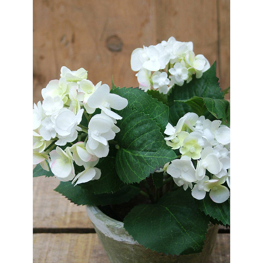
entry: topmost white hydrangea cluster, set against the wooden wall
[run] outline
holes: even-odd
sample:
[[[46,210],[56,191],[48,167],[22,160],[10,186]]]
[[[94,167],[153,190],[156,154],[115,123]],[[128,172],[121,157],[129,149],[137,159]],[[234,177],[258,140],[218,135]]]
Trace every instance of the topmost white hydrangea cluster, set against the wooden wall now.
[[[209,68],[203,55],[195,56],[192,42],[180,42],[174,37],[131,53],[131,69],[138,71],[135,76],[144,91],[155,89],[167,94],[174,84],[190,82],[193,74],[200,78]]]

